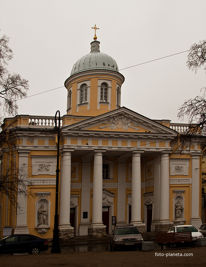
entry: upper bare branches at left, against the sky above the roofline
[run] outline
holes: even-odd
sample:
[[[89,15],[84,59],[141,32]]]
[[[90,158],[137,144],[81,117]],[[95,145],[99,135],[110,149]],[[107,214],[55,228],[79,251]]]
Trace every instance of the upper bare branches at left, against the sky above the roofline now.
[[[12,49],[8,46],[9,38],[3,35],[0,38],[0,107],[1,118],[3,115],[14,116],[17,114],[16,101],[27,96],[28,80],[19,74],[10,74],[6,68],[8,61],[13,58]]]

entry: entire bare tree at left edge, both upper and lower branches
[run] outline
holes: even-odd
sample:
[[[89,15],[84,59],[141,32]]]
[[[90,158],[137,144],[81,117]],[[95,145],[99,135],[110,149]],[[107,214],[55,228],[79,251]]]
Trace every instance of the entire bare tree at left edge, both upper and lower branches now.
[[[4,116],[14,116],[17,114],[17,100],[27,96],[28,80],[23,79],[19,74],[10,74],[7,70],[8,61],[13,58],[12,49],[8,46],[9,38],[3,35],[0,38],[0,122]],[[0,172],[0,195],[7,196],[10,203],[17,208],[21,208],[18,203],[18,195],[25,198],[33,196],[31,190],[33,183],[31,176],[24,168],[16,167],[12,150],[16,149],[16,142],[12,138],[12,129],[15,121],[8,125],[3,125],[0,133],[0,155],[8,158],[4,160],[5,166]]]

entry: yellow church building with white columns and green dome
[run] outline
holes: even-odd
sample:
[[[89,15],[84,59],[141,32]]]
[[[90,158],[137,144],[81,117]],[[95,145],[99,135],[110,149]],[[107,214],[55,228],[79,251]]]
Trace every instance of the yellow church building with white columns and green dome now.
[[[194,142],[179,155],[182,125],[121,106],[124,79],[116,61],[100,52],[95,35],[91,51],[74,64],[64,83],[68,94],[60,126],[58,209],[62,239],[103,237],[115,224],[131,223],[143,233],[166,232],[173,224],[201,225],[201,147]],[[54,116],[4,119],[15,145],[2,148],[10,153],[1,154],[1,173],[11,161],[23,168],[35,197],[19,194],[17,209],[3,195],[1,238],[8,229],[53,237],[54,124]]]

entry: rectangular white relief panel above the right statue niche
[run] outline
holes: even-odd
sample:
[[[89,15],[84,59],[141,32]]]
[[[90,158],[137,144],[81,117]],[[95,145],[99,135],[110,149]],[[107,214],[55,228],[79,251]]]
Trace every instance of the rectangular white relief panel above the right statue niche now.
[[[170,159],[170,175],[188,175],[189,159]]]

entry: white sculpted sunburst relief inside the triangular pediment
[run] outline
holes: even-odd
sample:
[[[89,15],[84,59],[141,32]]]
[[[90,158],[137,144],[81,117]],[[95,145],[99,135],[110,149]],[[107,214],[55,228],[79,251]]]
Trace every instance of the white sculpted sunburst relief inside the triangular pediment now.
[[[109,127],[111,130],[116,130],[116,128],[123,129],[123,130],[128,130],[129,128],[132,128],[136,131],[139,130],[137,128],[138,124],[136,124],[133,120],[125,117],[124,115],[119,115],[113,118],[108,119],[108,122],[104,123],[108,124],[106,126],[100,126],[100,129]]]

